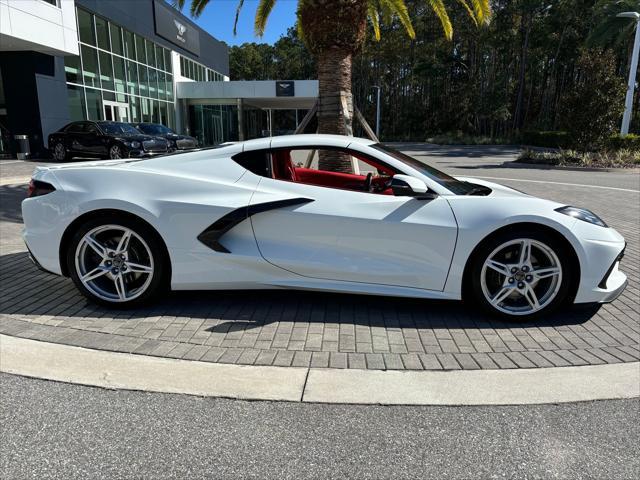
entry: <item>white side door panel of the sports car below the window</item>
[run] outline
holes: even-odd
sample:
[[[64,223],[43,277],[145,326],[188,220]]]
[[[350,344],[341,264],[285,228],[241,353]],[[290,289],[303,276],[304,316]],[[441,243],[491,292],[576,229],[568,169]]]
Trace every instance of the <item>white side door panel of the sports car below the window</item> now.
[[[442,290],[457,225],[441,197],[416,200],[263,178],[251,205],[307,198],[251,217],[266,260],[328,280]]]

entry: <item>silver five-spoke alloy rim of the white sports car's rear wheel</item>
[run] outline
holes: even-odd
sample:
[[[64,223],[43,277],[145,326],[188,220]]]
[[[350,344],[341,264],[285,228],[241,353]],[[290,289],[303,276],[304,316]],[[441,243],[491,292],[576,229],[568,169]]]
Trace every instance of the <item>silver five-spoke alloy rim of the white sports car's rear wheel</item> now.
[[[153,254],[144,239],[121,225],[101,225],[78,243],[76,273],[96,297],[128,302],[142,295],[153,278]]]

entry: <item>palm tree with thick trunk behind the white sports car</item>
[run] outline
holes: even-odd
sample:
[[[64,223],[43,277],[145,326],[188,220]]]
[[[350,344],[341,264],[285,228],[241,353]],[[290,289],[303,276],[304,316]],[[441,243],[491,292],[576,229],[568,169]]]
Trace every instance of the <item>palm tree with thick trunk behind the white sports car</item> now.
[[[211,0],[191,0],[190,13],[198,17]],[[440,20],[447,39],[453,28],[444,0],[425,0]],[[178,8],[186,0],[175,0]],[[489,0],[457,0],[476,25],[488,22]],[[256,35],[262,36],[276,0],[260,0],[255,16]],[[238,0],[234,33],[244,0]],[[298,0],[298,34],[318,66],[318,131],[339,135],[352,134],[353,100],[351,60],[365,41],[367,21],[375,38],[380,39],[380,21],[397,18],[409,38],[415,38],[405,0]],[[339,156],[321,158],[320,167],[349,171],[350,161]]]

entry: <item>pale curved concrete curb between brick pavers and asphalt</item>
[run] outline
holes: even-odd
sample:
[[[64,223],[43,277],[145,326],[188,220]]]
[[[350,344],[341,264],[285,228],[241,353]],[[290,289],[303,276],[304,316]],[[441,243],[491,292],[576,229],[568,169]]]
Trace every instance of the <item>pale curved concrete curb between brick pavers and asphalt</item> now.
[[[0,371],[109,389],[318,403],[526,405],[640,396],[640,362],[445,372],[258,367],[89,350],[6,335],[0,335]]]

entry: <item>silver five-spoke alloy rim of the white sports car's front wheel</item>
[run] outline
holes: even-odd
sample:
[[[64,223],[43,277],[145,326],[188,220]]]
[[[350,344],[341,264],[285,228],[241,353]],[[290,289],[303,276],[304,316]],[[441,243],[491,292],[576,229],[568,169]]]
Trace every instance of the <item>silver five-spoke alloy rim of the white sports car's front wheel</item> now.
[[[562,265],[551,247],[518,238],[497,247],[480,273],[482,293],[496,310],[530,315],[549,305],[562,285]]]

